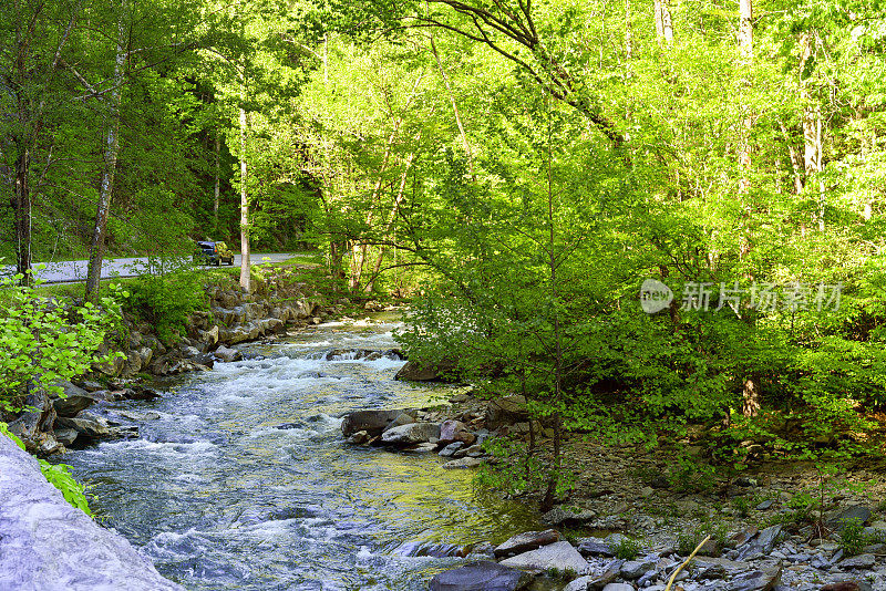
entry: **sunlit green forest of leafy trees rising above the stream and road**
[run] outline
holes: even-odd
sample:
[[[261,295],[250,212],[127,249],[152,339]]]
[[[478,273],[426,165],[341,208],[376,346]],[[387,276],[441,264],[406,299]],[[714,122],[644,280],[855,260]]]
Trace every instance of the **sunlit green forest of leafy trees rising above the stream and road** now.
[[[880,0],[9,0],[0,115],[22,281],[316,251],[409,302],[411,357],[529,401],[556,436],[502,453],[545,508],[570,432],[882,454]]]

